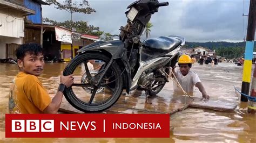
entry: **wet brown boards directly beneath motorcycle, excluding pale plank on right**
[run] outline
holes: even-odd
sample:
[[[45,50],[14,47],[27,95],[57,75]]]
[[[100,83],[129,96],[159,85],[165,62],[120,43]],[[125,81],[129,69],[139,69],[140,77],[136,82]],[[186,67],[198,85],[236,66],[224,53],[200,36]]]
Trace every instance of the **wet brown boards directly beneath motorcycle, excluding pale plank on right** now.
[[[106,113],[175,113],[184,108],[184,103],[163,102],[158,100],[161,97],[149,99],[152,104],[147,104],[145,97],[121,96],[116,104],[110,109],[105,110]],[[187,105],[188,106],[188,105]],[[186,108],[187,108],[186,106]],[[63,101],[60,105],[60,111],[68,113],[84,113],[73,108],[68,101]]]

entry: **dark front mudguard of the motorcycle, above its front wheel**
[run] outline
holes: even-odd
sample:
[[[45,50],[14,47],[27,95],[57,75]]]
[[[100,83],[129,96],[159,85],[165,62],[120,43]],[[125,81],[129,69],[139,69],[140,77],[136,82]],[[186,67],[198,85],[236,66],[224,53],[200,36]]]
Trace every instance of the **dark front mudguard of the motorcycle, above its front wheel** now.
[[[131,71],[129,61],[126,55],[126,49],[124,48],[124,42],[119,40],[114,41],[97,41],[93,44],[87,45],[77,51],[78,53],[89,53],[89,52],[102,52],[107,56],[112,56],[119,65],[123,72],[123,88],[126,89],[127,94],[130,92],[131,87]]]

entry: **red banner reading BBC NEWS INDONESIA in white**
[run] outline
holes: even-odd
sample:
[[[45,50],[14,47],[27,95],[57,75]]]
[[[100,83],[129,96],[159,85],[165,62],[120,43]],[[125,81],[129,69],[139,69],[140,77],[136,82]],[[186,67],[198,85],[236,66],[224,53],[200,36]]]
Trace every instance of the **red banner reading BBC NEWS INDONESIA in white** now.
[[[6,138],[169,138],[170,115],[5,115]]]

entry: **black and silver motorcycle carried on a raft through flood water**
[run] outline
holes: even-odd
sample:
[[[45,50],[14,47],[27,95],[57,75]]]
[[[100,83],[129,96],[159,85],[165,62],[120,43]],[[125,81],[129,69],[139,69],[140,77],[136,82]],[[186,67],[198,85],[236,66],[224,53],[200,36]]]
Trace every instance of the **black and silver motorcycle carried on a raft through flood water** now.
[[[127,94],[135,89],[145,90],[147,97],[163,89],[185,39],[171,35],[141,42],[140,36],[151,16],[161,6],[168,5],[157,0],[133,2],[125,12],[127,24],[120,27],[119,40],[97,41],[79,49],[64,69],[65,76],[75,74],[75,83],[64,91],[73,107],[99,112],[116,103],[123,90]],[[100,68],[90,69],[90,64]]]

